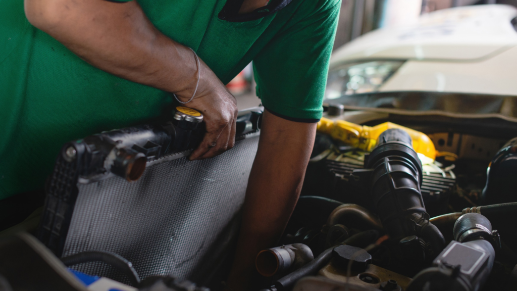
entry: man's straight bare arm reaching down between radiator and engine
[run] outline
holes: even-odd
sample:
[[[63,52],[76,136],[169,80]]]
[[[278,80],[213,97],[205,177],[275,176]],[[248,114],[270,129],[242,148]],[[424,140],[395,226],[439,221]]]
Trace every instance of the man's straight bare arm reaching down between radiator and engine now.
[[[291,217],[309,163],[316,123],[294,122],[264,112],[251,169],[242,225],[228,287],[248,290],[255,256],[278,243]]]

